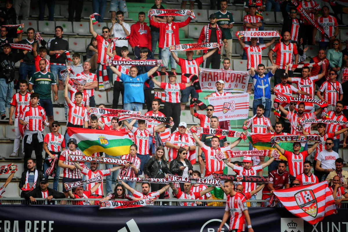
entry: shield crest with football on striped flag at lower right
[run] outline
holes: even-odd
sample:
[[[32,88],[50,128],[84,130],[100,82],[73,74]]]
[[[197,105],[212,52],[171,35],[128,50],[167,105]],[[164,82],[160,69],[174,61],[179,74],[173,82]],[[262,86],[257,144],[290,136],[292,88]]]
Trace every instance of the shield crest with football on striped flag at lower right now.
[[[303,190],[295,195],[297,205],[309,216],[317,216],[317,200],[312,190]]]

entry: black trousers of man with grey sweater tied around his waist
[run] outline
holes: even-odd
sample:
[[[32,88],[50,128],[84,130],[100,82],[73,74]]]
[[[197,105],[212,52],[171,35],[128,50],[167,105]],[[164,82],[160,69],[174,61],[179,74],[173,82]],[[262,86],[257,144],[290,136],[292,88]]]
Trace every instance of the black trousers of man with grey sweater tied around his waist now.
[[[42,147],[44,145],[44,142],[42,141],[39,143],[38,140],[38,134],[32,135],[32,141],[31,144],[26,143],[26,140],[28,138],[28,135],[24,136],[23,143],[24,143],[24,171],[28,170],[27,167],[27,161],[29,158],[31,158],[31,153],[33,150],[35,151],[35,157],[36,157],[36,169],[39,171],[42,171]],[[42,136],[42,140],[44,136]]]

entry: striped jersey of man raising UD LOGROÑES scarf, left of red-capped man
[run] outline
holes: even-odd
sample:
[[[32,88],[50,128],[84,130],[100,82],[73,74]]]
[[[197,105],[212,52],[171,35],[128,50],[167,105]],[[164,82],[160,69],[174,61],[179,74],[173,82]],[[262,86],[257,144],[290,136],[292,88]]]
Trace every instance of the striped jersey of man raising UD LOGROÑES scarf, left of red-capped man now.
[[[202,151],[204,152],[204,155],[205,155],[205,175],[204,176],[207,177],[213,173],[223,174],[222,171],[225,166],[222,160],[219,161],[215,158],[216,153],[218,151],[230,151],[230,150],[231,150],[230,146],[213,149],[212,147],[209,147],[203,144]]]

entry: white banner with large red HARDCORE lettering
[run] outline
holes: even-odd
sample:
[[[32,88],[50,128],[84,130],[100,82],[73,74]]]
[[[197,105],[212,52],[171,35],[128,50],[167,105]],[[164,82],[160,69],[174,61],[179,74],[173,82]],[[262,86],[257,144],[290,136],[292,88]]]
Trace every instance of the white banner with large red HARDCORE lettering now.
[[[219,69],[200,68],[199,79],[202,91],[216,91],[218,80],[225,82],[224,91],[246,93],[250,74],[246,71],[229,71]]]

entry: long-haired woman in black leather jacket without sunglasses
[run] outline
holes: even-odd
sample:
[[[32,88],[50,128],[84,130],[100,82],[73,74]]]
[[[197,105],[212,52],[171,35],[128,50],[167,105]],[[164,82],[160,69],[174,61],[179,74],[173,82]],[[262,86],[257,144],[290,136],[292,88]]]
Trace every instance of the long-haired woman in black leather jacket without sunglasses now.
[[[144,173],[149,178],[165,178],[165,174],[172,174],[169,171],[167,160],[164,155],[164,147],[158,146],[155,152],[155,157],[150,160],[144,166]],[[151,192],[155,192],[166,186],[160,183],[150,183]],[[159,199],[164,199],[165,192],[159,195]]]

